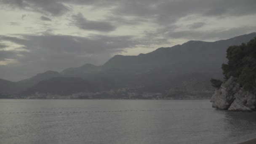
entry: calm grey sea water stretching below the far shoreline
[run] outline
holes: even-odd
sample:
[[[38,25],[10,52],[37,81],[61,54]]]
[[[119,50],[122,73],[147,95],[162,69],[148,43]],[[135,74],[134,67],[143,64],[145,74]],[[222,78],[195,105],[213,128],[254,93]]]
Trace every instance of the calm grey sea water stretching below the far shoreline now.
[[[0,100],[0,144],[233,144],[256,137],[255,112],[209,100]]]

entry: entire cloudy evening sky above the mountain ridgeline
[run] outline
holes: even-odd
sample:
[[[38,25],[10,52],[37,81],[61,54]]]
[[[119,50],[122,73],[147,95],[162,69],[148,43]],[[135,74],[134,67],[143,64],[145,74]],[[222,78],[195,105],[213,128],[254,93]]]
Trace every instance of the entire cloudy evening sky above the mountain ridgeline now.
[[[0,79],[256,32],[256,0],[0,0]]]

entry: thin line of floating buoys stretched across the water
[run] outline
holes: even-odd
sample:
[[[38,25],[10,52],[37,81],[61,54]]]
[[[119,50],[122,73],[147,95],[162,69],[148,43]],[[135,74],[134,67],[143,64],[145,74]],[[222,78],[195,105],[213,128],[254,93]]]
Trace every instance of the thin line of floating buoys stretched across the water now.
[[[213,108],[209,108],[213,109]],[[207,110],[207,109],[155,109],[155,110],[116,110],[116,111],[77,111],[77,112],[0,112],[0,114],[23,114],[23,113],[103,113],[103,112],[157,112],[157,111],[175,111],[175,110]]]

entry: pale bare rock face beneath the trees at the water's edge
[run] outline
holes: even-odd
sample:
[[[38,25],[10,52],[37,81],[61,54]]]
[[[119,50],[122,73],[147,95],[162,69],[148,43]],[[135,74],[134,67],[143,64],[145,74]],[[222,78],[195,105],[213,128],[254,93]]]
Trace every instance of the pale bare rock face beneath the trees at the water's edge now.
[[[244,91],[235,77],[230,77],[215,90],[211,102],[213,107],[229,111],[253,111],[256,108],[256,96]]]

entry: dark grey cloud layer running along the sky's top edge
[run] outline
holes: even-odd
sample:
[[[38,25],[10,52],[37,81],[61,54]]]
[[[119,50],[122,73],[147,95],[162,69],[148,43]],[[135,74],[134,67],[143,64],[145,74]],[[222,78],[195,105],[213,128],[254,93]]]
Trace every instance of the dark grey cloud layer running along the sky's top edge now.
[[[27,11],[59,16],[71,10],[68,5],[96,8],[115,6],[116,16],[136,16],[165,24],[182,16],[243,16],[256,13],[255,0],[0,0],[0,3]]]

